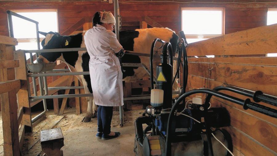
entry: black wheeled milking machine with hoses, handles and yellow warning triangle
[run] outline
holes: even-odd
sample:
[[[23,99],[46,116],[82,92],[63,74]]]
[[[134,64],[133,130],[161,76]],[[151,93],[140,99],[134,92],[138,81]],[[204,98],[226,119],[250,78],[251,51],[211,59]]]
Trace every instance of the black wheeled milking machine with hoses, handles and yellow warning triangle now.
[[[153,80],[153,53],[156,43],[162,43],[160,64],[156,67],[157,78]],[[229,113],[225,108],[210,108],[211,96],[243,105],[273,117],[277,117],[275,109],[255,104],[250,99],[242,100],[215,90],[229,90],[255,98],[255,102],[275,103],[273,96],[262,92],[250,92],[241,88],[224,86],[215,90],[200,88],[185,92],[187,84],[186,41],[179,44],[177,65],[183,65],[182,92],[178,98],[172,98],[172,66],[173,56],[170,43],[155,39],[151,47],[151,105],[146,107],[142,117],[135,121],[134,152],[138,156],[150,155],[231,155],[232,140],[230,134],[222,127],[230,125]],[[183,54],[183,62],[182,60]],[[182,62],[182,63],[181,63]],[[175,77],[178,78],[178,70]],[[155,84],[155,86],[154,86]],[[155,87],[155,88],[154,88]],[[208,97],[202,103],[201,96],[195,96],[185,102],[187,96],[206,93]],[[254,96],[255,95],[255,96]],[[260,99],[259,99],[259,98]],[[192,102],[191,102],[192,101]],[[276,105],[276,103],[274,104]],[[147,126],[143,129],[143,124]],[[219,129],[220,128],[220,129]]]

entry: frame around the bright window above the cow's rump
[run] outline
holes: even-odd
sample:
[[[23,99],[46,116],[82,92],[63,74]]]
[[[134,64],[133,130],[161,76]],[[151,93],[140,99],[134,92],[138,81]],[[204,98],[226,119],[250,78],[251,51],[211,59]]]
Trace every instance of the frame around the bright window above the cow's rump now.
[[[215,7],[181,7],[181,29],[183,29],[183,10],[220,10],[222,11],[221,34],[185,34],[187,39],[210,39],[225,34],[225,8]]]

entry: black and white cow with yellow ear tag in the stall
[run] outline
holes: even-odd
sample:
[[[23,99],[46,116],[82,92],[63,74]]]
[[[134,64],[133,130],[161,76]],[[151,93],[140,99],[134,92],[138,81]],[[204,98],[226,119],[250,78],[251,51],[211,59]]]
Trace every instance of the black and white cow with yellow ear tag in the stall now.
[[[85,33],[86,32],[84,31],[83,33],[79,33],[77,35],[61,36],[54,32],[40,32],[40,34],[46,36],[46,38],[42,40],[41,44],[43,49],[86,47],[83,38]],[[149,54],[152,42],[155,38],[159,38],[172,44],[175,55],[179,39],[178,35],[176,35],[175,32],[169,28],[148,28],[136,29],[134,31],[121,31],[119,36],[119,42],[125,50]],[[41,53],[37,60],[38,63],[49,63],[61,60],[68,65],[71,72],[89,71],[90,56],[87,51]],[[157,59],[157,61],[159,62],[159,59]],[[148,68],[150,67],[149,57],[143,56],[124,55],[122,57],[122,63],[143,63]],[[122,72],[123,81],[126,82],[135,82],[145,76],[148,76],[147,72],[142,67],[123,67]],[[92,93],[90,76],[77,75],[77,77],[84,85],[85,93]],[[86,97],[86,100],[88,102],[88,107],[86,117],[83,120],[84,122],[88,122],[91,120],[91,117],[95,117],[97,111],[97,106],[94,104],[93,97]]]

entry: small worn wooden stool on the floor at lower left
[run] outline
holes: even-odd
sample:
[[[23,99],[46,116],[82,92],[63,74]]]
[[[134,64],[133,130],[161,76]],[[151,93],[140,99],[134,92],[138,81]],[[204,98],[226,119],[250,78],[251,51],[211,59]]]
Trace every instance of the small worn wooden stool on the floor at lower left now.
[[[63,135],[61,128],[47,129],[40,132],[41,149],[47,156],[63,156]]]

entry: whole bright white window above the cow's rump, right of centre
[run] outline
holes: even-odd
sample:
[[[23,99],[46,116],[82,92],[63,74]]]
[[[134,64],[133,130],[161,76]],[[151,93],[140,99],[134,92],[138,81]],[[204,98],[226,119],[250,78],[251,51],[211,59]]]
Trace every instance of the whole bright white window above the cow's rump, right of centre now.
[[[182,31],[188,43],[223,35],[224,8],[182,8]]]

